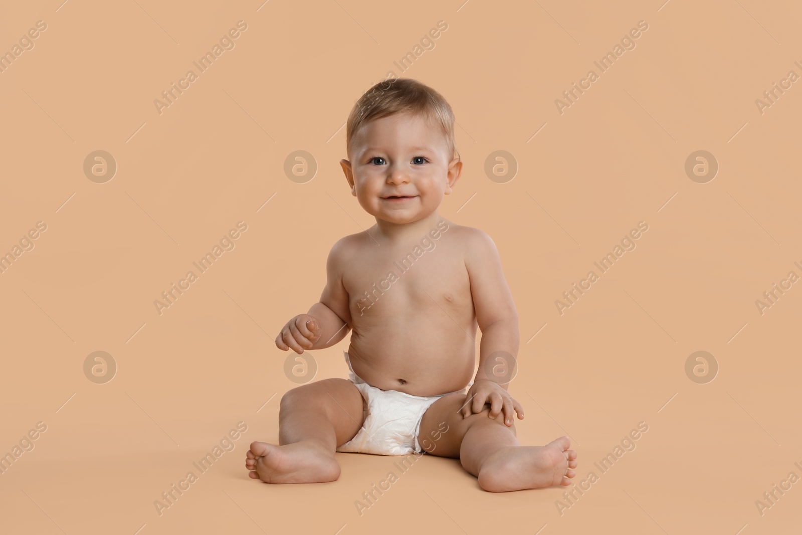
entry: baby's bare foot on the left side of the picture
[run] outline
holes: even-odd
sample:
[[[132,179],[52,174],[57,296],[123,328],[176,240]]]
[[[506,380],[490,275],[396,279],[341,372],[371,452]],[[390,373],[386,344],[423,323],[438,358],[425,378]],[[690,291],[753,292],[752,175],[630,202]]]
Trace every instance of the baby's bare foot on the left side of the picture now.
[[[275,446],[253,442],[245,452],[248,475],[265,483],[324,483],[340,476],[334,452],[311,441]]]

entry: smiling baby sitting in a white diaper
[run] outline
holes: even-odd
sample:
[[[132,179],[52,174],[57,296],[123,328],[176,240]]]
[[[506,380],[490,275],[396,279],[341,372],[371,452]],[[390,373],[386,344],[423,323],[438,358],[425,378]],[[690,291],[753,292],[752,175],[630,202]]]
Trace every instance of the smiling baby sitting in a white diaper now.
[[[276,345],[300,355],[353,330],[350,379],[288,391],[279,445],[251,444],[249,476],[334,481],[334,452],[426,451],[459,458],[491,492],[570,484],[577,452],[568,437],[521,446],[513,418],[523,407],[507,391],[509,373],[493,371],[514,362],[519,343],[496,245],[437,213],[462,170],[452,108],[415,80],[377,83],[350,113],[346,149],[351,194],[376,224],[334,244],[320,302],[290,319]]]

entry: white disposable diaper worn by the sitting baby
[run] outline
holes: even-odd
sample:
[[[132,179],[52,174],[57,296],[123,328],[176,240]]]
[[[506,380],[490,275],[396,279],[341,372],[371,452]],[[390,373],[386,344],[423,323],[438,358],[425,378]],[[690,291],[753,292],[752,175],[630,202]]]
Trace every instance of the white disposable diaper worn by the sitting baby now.
[[[348,379],[354,383],[364,399],[365,423],[356,436],[339,446],[337,451],[387,456],[422,452],[423,448],[418,444],[418,432],[423,413],[431,403],[448,394],[411,395],[397,390],[371,387],[354,373],[348,352],[343,351],[343,354],[348,364]],[[465,389],[456,392],[464,393]]]

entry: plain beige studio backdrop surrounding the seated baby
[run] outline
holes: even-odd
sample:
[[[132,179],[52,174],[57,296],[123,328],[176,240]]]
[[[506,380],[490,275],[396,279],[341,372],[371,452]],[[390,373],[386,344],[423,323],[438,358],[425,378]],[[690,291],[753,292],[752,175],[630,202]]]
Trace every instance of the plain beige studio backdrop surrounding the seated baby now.
[[[797,2],[60,2],[6,2],[0,16],[3,52],[47,23],[0,74],[0,252],[47,224],[0,274],[0,453],[47,425],[0,475],[0,532],[799,529],[802,484],[763,516],[755,506],[802,477],[802,285],[755,306],[802,275],[800,82],[755,105],[802,75]],[[236,47],[160,115],[153,100],[239,20]],[[448,30],[402,73],[393,62],[440,20]],[[641,20],[637,47],[559,114],[554,100]],[[563,488],[483,492],[431,456],[361,517],[354,501],[395,459],[338,454],[330,484],[246,476],[247,444],[277,441],[295,386],[273,337],[318,299],[330,245],[373,223],[339,168],[341,127],[391,70],[456,113],[464,175],[441,213],[500,249],[520,314],[521,442],[568,433],[577,481],[599,476],[562,515]],[[104,184],[83,173],[96,150],[118,165]],[[304,184],[283,171],[296,150],[318,164]],[[518,164],[504,184],[484,173],[496,150]],[[707,184],[684,171],[698,150],[719,162]],[[157,314],[237,221],[236,248]],[[638,221],[637,249],[558,314]],[[316,379],[346,377],[346,347],[313,353]],[[93,351],[115,359],[111,382],[84,375]],[[712,382],[687,377],[694,351],[714,355]],[[161,492],[240,421],[236,449],[159,516]],[[601,474],[593,462],[638,422],[637,448]]]

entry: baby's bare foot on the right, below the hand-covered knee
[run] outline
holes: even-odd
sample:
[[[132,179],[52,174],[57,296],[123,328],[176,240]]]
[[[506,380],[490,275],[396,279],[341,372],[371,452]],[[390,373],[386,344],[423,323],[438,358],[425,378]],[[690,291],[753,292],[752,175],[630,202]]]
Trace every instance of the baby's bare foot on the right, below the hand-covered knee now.
[[[569,485],[576,476],[577,452],[562,436],[545,446],[508,446],[489,456],[479,469],[479,485],[490,492]]]

